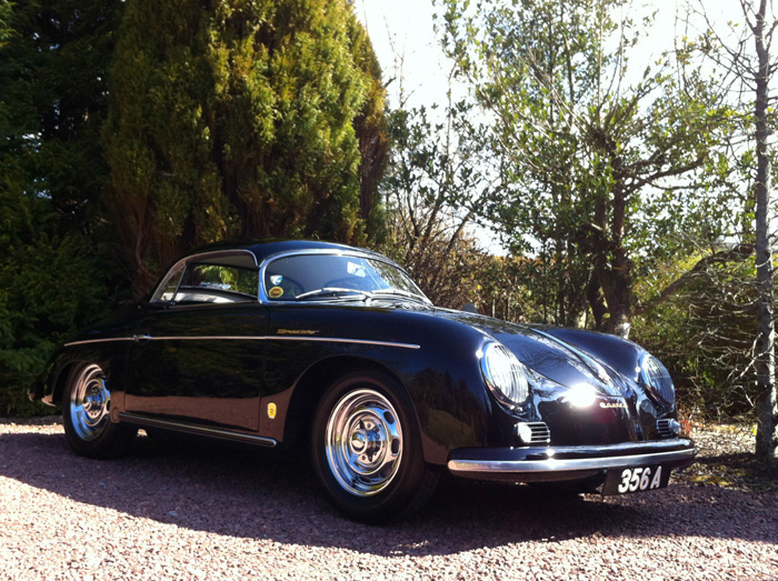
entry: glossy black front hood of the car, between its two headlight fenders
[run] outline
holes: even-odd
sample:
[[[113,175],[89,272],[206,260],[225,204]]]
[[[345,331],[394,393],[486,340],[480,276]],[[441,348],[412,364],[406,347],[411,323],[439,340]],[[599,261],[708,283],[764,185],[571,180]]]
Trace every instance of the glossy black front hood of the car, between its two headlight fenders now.
[[[509,323],[480,314],[435,309],[436,315],[468,324],[497,339],[530,370],[568,388],[591,385],[604,395],[624,395],[625,378],[607,362],[584,353],[542,328]]]

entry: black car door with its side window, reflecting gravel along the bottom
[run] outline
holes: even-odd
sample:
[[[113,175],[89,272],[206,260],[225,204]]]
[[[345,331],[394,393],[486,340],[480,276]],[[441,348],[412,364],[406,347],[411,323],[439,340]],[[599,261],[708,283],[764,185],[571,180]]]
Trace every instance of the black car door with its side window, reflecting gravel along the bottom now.
[[[137,328],[126,410],[259,430],[268,315],[257,292],[258,271],[243,254],[209,253],[173,267]]]

